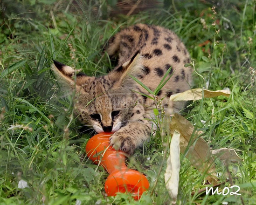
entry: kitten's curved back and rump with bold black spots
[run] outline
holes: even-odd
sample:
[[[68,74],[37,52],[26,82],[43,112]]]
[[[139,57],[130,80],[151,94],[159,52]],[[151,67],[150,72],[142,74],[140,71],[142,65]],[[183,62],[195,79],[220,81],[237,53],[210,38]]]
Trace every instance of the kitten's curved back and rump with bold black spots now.
[[[169,82],[159,93],[160,97],[170,96],[190,89],[192,68],[184,67],[190,62],[190,55],[180,38],[164,27],[137,24],[121,30],[108,42],[110,56],[118,54],[119,65],[139,53],[143,56],[143,75],[139,80],[154,90],[166,71],[172,67]]]

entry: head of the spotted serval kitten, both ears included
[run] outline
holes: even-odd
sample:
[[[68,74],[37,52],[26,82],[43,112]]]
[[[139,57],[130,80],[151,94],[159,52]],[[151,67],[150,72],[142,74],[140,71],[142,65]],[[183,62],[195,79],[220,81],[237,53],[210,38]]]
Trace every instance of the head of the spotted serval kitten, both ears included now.
[[[141,57],[134,55],[109,75],[91,77],[54,61],[53,71],[62,89],[74,96],[75,113],[84,124],[98,133],[116,132],[130,118],[137,102],[132,92],[138,85],[132,76],[142,72]]]

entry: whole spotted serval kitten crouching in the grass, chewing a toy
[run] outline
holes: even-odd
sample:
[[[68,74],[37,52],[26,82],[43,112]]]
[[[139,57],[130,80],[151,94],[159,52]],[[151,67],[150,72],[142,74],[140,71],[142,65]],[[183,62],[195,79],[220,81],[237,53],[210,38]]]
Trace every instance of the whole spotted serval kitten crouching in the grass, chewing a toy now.
[[[171,68],[170,80],[158,93],[163,98],[162,104],[167,106],[171,95],[190,89],[192,69],[184,67],[190,56],[172,31],[144,24],[120,31],[107,42],[105,50],[111,57],[118,54],[118,66],[108,75],[76,74],[73,68],[59,62],[54,62],[53,70],[66,89],[76,92],[75,110],[79,119],[97,132],[114,132],[110,144],[132,154],[151,134],[148,119],[153,116],[154,102],[131,75],[154,90]],[[172,106],[177,112],[183,102]]]

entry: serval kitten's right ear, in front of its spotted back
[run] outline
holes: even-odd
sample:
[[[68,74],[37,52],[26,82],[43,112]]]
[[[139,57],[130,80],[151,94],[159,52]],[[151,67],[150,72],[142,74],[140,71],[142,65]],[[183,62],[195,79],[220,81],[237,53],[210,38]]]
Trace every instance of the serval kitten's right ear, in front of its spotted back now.
[[[137,82],[135,82],[131,76],[135,78],[140,78],[143,75],[143,65],[142,56],[137,52],[131,57],[131,59],[121,65],[116,69],[118,76],[118,81],[114,84],[113,88],[118,89],[120,87],[125,87],[128,89],[133,89]]]

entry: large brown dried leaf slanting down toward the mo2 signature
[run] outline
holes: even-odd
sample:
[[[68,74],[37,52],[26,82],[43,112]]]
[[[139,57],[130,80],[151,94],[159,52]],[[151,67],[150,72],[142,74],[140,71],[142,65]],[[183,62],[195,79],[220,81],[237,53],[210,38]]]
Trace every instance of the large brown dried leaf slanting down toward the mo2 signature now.
[[[215,176],[214,160],[211,157],[211,151],[208,144],[202,137],[202,132],[194,130],[194,126],[183,116],[175,113],[170,123],[170,130],[180,133],[180,152],[185,154],[188,147],[186,157],[190,160],[201,173],[208,174],[208,181],[215,185],[218,183]]]

